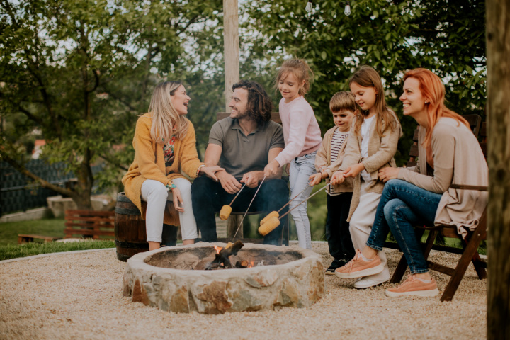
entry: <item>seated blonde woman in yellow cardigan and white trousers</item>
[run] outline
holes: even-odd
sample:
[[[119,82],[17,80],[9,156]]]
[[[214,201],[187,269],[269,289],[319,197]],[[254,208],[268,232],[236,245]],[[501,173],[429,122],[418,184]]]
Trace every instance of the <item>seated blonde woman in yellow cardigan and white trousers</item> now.
[[[161,246],[163,223],[178,225],[180,221],[183,244],[195,242],[191,183],[181,172],[191,179],[205,174],[217,181],[215,172],[221,170],[198,159],[195,129],[184,117],[190,99],[180,81],[165,81],[154,89],[149,113],[137,120],[135,160],[122,182],[126,196],[145,219],[149,250]],[[167,200],[173,201],[175,209],[167,206]]]

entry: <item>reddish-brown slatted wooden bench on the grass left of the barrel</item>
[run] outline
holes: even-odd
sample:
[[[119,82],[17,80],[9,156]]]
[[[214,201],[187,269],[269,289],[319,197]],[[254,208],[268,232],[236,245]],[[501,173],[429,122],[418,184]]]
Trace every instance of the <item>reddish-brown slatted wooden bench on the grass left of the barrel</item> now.
[[[115,211],[66,210],[64,239],[115,237]]]

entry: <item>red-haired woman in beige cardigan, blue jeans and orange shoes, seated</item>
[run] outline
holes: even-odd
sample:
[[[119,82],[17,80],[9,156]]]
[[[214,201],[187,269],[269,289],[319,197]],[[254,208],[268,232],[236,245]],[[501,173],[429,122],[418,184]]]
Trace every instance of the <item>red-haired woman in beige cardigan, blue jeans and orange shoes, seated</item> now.
[[[455,225],[460,234],[465,234],[465,228],[477,227],[487,205],[487,193],[450,188],[452,183],[487,186],[488,170],[469,124],[446,108],[444,98],[441,79],[428,69],[414,69],[404,74],[404,93],[400,101],[404,105],[404,115],[411,116],[420,125],[419,164],[414,168],[379,171],[379,179],[387,183],[372,233],[362,251],[370,261],[352,263],[348,270],[351,277],[373,270],[380,262],[377,251],[382,249],[391,230],[406,257],[411,276],[398,287],[386,290],[390,297],[439,293],[416,240],[414,225]]]

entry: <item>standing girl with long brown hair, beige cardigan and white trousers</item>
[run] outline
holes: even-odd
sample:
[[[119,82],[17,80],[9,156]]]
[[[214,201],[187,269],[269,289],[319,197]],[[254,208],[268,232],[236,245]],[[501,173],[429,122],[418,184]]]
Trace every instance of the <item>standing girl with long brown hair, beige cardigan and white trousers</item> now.
[[[378,179],[378,171],[396,166],[393,157],[397,152],[399,137],[402,136],[402,128],[397,115],[386,106],[382,81],[375,69],[361,67],[351,77],[349,86],[363,115],[358,115],[353,122],[344,160],[339,167],[340,171],[331,177],[331,183],[337,185],[348,177],[354,178],[348,216],[349,232],[354,249],[363,249],[372,231],[375,211],[384,188],[384,183]],[[357,250],[355,259],[361,256]],[[354,288],[369,288],[390,280],[384,251],[380,251],[379,256],[381,270],[366,273],[354,283]],[[345,266],[337,268],[335,275],[350,278],[344,275],[344,269]]]

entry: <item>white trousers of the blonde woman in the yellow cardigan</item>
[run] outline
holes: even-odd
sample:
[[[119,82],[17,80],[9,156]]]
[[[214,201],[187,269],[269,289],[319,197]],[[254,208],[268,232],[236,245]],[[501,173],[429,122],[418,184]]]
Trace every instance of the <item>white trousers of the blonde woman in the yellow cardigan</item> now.
[[[184,212],[179,212],[182,239],[196,239],[198,233],[191,206],[191,183],[187,179],[174,179],[174,184],[181,191],[183,199]],[[163,183],[146,179],[142,184],[142,200],[147,202],[147,212],[145,213],[147,242],[161,243],[166,201],[174,200],[174,195],[171,191],[166,191],[166,186]]]

